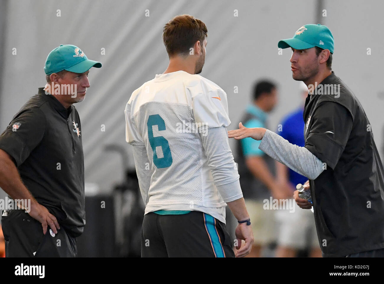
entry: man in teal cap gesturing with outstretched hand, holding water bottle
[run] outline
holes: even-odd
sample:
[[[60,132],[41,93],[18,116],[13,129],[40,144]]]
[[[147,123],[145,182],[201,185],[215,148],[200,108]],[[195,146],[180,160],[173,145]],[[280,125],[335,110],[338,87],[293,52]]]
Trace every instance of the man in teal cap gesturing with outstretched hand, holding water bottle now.
[[[278,47],[291,48],[292,77],[309,90],[305,147],[241,123],[228,137],[262,140],[260,150],[309,179],[311,198],[298,191],[294,198],[303,209],[313,207],[324,257],[384,257],[384,170],[364,109],[331,70],[331,31],[306,24]]]

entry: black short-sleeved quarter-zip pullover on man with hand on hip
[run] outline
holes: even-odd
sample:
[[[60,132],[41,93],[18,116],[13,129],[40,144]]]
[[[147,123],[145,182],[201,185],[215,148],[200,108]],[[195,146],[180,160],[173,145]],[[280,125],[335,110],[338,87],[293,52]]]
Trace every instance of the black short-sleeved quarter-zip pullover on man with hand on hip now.
[[[85,225],[84,155],[76,108],[66,109],[43,88],[13,117],[0,136],[33,197],[73,237]]]

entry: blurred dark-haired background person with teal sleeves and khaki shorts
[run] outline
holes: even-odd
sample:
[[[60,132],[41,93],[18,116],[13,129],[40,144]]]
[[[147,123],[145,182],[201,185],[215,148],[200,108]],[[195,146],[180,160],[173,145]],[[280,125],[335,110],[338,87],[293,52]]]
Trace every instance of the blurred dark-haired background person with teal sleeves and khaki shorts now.
[[[261,80],[253,87],[253,103],[247,106],[242,118],[245,127],[267,126],[268,113],[276,106],[276,84]],[[259,149],[261,141],[250,137],[237,141],[238,171],[245,204],[253,225],[253,244],[250,257],[260,257],[262,248],[275,241],[275,218],[273,210],[264,210],[263,200],[286,198],[284,190],[276,183],[275,160]],[[283,191],[283,192],[282,192]],[[292,193],[290,192],[290,197]]]

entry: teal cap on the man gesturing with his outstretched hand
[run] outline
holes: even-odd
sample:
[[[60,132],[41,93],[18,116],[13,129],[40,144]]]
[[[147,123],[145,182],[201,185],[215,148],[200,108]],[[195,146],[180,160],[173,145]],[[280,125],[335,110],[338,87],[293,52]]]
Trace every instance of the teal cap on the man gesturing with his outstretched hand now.
[[[292,47],[293,49],[307,49],[318,46],[322,49],[329,49],[333,54],[333,35],[327,26],[321,24],[306,24],[298,29],[293,38],[282,39],[278,42],[279,48]]]

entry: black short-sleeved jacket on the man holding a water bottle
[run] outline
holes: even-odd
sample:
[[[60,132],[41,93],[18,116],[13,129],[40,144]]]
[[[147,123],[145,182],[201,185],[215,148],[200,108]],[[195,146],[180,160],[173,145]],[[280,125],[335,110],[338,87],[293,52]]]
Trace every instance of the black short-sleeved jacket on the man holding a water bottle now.
[[[314,218],[323,256],[340,257],[384,247],[384,174],[367,116],[352,91],[332,72],[321,84],[340,84],[339,97],[308,96],[303,118],[304,136],[310,133],[319,104],[341,104],[353,119],[348,141],[334,169],[327,167],[310,180]],[[320,85],[321,85],[320,84]],[[343,122],[334,122],[343,131]],[[323,150],[323,160],[328,154]],[[324,162],[324,161],[323,161]]]

